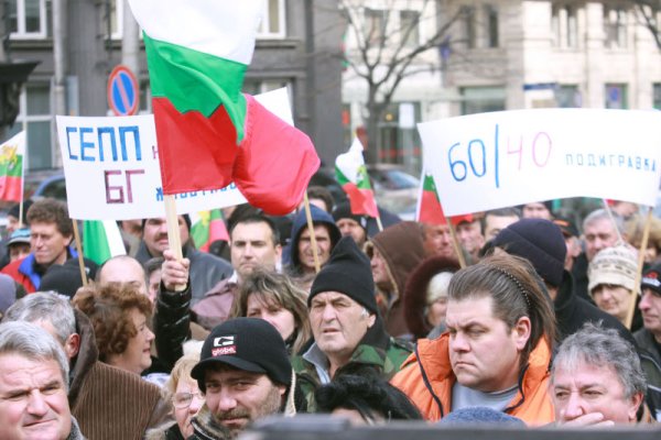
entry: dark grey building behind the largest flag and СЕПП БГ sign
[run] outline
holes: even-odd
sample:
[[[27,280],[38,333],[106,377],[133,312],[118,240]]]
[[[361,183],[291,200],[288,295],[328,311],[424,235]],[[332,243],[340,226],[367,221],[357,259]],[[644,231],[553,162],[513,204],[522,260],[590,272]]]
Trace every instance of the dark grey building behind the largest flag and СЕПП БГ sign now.
[[[262,21],[245,91],[286,86],[294,122],[325,162],[343,150],[340,38],[336,0],[262,1]],[[21,95],[17,123],[6,135],[28,130],[28,169],[59,167],[55,114],[107,116],[108,75],[133,67],[140,112],[151,112],[144,47],[126,37],[137,28],[126,0],[10,0],[6,7],[9,59],[39,61]],[[134,31],[138,35],[138,31]],[[134,41],[132,41],[134,40]],[[136,53],[127,47],[137,47]]]

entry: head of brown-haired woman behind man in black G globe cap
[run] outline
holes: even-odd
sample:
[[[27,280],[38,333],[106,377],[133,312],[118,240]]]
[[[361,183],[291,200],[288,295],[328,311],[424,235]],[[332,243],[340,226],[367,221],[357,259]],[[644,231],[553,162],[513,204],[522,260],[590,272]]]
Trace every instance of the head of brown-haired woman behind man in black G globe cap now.
[[[264,319],[278,329],[290,354],[296,354],[312,338],[306,298],[289,276],[259,268],[241,284],[230,316]]]

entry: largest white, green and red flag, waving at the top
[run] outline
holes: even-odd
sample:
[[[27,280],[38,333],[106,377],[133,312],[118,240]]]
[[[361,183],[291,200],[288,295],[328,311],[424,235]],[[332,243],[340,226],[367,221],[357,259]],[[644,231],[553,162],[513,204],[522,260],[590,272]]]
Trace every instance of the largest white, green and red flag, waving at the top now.
[[[310,138],[241,94],[264,2],[129,0],[144,31],[163,193],[234,182],[291,212],[319,158]]]

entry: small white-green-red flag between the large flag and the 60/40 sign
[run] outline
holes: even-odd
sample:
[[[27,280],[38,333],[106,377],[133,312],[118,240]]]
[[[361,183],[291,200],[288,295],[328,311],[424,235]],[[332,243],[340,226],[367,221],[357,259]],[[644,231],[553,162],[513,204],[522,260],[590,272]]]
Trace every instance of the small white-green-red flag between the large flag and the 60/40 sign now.
[[[362,144],[358,138],[347,153],[335,160],[335,177],[349,196],[351,213],[357,216],[379,217],[375,193],[369,184],[369,176],[362,158]]]

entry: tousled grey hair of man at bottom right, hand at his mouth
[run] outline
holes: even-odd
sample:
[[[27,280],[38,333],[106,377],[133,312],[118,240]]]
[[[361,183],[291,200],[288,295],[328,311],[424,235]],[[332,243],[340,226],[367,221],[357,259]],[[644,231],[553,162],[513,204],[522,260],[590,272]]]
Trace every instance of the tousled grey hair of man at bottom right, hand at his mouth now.
[[[553,361],[551,381],[555,377],[556,369],[576,371],[581,364],[611,369],[625,389],[626,398],[638,393],[644,395],[647,381],[640,358],[633,345],[615,329],[586,322],[581,330],[566,338]]]

